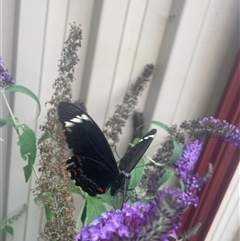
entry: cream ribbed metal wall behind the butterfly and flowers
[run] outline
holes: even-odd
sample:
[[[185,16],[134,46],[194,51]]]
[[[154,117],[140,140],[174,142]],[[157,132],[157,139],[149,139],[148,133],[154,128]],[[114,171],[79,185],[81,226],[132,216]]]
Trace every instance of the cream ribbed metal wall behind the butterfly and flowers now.
[[[101,127],[148,63],[153,63],[156,70],[138,104],[146,120],[170,125],[214,114],[239,49],[239,0],[0,2],[0,54],[16,83],[38,95],[42,113],[35,120],[36,104],[24,95],[11,95],[9,100],[15,116],[35,129],[38,137],[38,126],[46,116],[44,103],[50,99],[53,81],[58,76],[58,59],[69,23],[75,21],[83,29],[73,96],[86,102],[89,113]],[[1,111],[5,117],[2,100]],[[130,125],[121,138],[120,155],[129,141]],[[158,133],[156,141],[163,134]],[[1,142],[0,149],[0,215],[10,217],[26,203],[28,213],[13,225],[13,241],[35,241],[44,223],[44,215],[30,191],[35,178],[24,182],[25,163],[19,156],[15,133],[3,128],[1,136],[5,142]],[[228,200],[229,205],[237,206],[239,196],[238,201]],[[223,215],[217,216],[219,223]],[[239,223],[231,215],[227,217],[233,237]],[[219,226],[214,227],[208,240],[219,240]],[[237,240],[228,237],[224,240]]]

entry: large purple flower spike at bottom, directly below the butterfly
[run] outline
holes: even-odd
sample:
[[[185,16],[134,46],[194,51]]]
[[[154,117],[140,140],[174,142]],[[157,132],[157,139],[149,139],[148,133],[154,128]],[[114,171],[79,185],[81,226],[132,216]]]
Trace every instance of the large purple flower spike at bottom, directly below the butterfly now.
[[[122,210],[106,211],[89,226],[82,227],[75,236],[78,241],[169,240],[169,235],[180,226],[185,203],[178,193],[165,189],[157,193],[149,204],[140,202]]]

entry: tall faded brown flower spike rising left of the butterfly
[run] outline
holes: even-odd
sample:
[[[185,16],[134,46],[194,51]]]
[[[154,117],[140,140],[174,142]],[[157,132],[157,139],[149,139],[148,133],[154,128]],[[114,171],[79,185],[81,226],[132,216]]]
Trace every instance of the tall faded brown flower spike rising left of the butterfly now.
[[[39,143],[41,176],[35,193],[38,202],[45,207],[48,220],[40,233],[43,240],[73,240],[76,222],[73,197],[69,193],[70,182],[66,171],[66,144],[56,107],[59,101],[72,97],[71,83],[74,81],[74,66],[78,63],[77,50],[81,46],[82,30],[71,25],[70,36],[65,42],[59,64],[59,77],[53,84],[54,94],[47,102],[51,105],[46,122],[40,127],[44,137]]]

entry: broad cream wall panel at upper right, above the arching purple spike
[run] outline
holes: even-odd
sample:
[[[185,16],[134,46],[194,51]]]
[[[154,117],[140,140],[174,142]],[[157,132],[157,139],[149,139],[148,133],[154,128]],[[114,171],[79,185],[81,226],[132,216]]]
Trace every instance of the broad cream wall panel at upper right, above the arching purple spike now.
[[[238,26],[238,3],[211,2],[186,2],[165,75],[159,74],[163,83],[153,119],[170,124],[203,117],[206,109],[212,110],[208,115],[214,114],[213,100],[219,100],[214,94],[225,84],[220,76],[229,72],[224,56]],[[218,5],[224,9],[219,14],[215,13]]]

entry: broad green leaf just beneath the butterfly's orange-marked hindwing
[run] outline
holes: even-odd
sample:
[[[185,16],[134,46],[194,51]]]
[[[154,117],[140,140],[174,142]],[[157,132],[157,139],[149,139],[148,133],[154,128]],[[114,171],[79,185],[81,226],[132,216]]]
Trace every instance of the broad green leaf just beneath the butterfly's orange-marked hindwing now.
[[[105,206],[94,197],[87,197],[87,224],[89,224],[93,218],[98,217],[103,211],[105,211]]]

